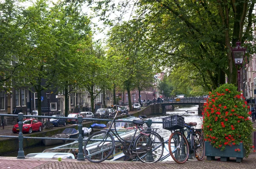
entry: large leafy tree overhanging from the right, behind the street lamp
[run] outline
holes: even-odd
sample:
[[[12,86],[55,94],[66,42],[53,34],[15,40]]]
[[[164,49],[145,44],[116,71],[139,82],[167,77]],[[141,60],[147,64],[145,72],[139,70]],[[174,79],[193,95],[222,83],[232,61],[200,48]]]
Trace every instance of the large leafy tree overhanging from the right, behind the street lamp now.
[[[133,26],[137,31],[130,36],[140,34],[137,41],[143,41],[148,50],[156,53],[154,57],[162,66],[189,62],[199,72],[200,79],[204,79],[205,86],[209,85],[205,79],[210,79],[210,89],[225,83],[225,75],[229,83],[237,83],[231,54],[236,41],[248,47],[248,54],[255,51],[250,43],[254,39],[254,0],[157,0],[134,4],[125,0],[119,6],[105,1],[94,9],[102,10],[101,19],[109,23],[105,16],[111,11],[117,9],[125,14],[133,5],[136,15],[129,23],[136,22]],[[122,14],[117,18],[119,21]]]

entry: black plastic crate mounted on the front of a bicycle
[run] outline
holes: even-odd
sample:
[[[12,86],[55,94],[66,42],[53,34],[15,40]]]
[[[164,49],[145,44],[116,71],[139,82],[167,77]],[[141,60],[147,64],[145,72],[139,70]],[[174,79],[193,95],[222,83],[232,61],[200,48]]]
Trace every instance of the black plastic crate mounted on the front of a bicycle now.
[[[177,130],[184,128],[184,118],[180,115],[172,115],[163,118],[163,129]]]

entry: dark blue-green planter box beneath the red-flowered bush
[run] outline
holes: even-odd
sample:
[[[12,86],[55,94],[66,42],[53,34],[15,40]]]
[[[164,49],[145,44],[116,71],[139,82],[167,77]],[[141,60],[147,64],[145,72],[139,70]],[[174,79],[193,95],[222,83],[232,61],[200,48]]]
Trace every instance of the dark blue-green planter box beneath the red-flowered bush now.
[[[235,151],[235,149],[240,149],[240,152]],[[205,141],[205,155],[207,160],[214,160],[216,157],[221,157],[221,161],[228,161],[230,157],[236,158],[236,162],[241,162],[245,157],[245,149],[243,143],[234,146],[226,146],[224,151],[221,149],[216,149],[210,145],[209,141]]]

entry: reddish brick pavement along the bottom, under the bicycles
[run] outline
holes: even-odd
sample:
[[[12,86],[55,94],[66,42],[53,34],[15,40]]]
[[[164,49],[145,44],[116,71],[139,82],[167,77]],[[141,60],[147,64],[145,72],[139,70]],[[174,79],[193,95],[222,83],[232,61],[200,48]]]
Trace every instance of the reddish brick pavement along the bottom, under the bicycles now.
[[[197,161],[189,160],[178,164],[173,161],[157,163],[141,163],[131,161],[104,161],[102,163],[90,163],[75,159],[17,159],[15,157],[0,157],[0,169],[254,169],[256,153],[251,153],[241,163],[236,163],[235,158],[230,161]]]

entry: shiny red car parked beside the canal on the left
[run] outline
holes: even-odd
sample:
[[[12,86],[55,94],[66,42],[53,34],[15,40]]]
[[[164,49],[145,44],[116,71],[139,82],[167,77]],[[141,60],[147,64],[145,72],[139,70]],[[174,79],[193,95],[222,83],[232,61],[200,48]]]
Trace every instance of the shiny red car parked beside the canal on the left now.
[[[42,123],[40,121],[38,121],[37,119],[26,118],[26,119],[22,120],[22,123],[23,123],[23,128],[22,128],[23,133],[24,132],[32,133],[32,131],[41,132],[41,130],[42,130]],[[13,133],[20,132],[18,123],[12,127],[12,132]]]

